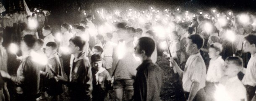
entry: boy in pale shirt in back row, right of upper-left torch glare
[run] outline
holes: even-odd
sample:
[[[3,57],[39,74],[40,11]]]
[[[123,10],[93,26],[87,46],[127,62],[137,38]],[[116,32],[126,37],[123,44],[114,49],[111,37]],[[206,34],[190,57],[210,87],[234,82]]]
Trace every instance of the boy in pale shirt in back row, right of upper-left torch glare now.
[[[55,37],[52,35],[52,28],[50,26],[43,27],[42,34],[44,35],[44,45],[43,48],[46,47],[48,42],[55,42]]]

